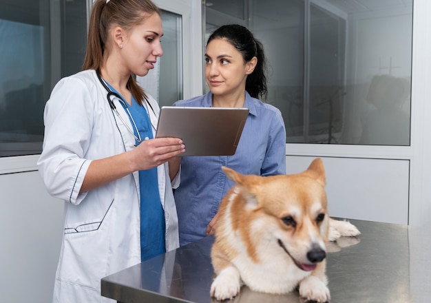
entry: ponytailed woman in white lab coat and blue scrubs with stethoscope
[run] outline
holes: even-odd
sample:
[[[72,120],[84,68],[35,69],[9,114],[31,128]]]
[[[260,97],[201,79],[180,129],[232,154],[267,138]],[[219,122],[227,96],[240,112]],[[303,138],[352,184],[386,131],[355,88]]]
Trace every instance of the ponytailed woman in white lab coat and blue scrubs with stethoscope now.
[[[153,138],[158,103],[132,76],[154,68],[162,34],[150,0],[96,0],[83,72],[45,106],[39,171],[66,202],[53,302],[112,302],[101,278],[178,247],[167,161],[185,146]]]

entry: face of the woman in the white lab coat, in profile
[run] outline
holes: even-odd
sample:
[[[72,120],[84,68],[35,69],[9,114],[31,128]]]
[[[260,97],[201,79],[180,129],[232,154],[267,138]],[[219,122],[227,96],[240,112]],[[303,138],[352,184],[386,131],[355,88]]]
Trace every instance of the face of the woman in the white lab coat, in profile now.
[[[162,35],[162,21],[156,13],[149,15],[143,23],[132,28],[121,52],[125,65],[131,72],[145,76],[154,68],[157,57],[163,54],[160,44]]]

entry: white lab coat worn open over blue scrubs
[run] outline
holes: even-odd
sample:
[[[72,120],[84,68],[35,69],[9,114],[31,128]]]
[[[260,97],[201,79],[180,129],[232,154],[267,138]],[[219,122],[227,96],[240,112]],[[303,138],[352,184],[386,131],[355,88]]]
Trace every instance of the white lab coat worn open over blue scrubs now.
[[[160,109],[149,96],[151,123]],[[118,99],[118,112],[132,124]],[[65,229],[56,271],[54,302],[112,302],[101,297],[101,278],[140,262],[138,172],[79,194],[92,160],[134,148],[135,139],[112,112],[94,70],[57,83],[45,106],[45,140],[38,161],[50,194],[65,200]],[[154,129],[153,129],[154,132]],[[166,249],[178,247],[178,218],[167,163],[157,168],[165,210]]]

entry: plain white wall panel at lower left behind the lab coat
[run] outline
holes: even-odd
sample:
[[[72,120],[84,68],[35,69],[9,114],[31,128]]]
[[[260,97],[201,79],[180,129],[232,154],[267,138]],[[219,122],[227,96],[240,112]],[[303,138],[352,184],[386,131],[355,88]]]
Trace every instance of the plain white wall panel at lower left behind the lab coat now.
[[[38,171],[0,175],[1,302],[52,301],[63,236],[63,202]]]

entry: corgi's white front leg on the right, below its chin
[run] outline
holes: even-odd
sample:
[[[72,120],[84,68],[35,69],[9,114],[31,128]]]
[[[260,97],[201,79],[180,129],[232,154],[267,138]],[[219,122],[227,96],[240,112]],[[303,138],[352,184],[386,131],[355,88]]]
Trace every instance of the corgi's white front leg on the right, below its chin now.
[[[328,302],[330,300],[328,279],[326,278],[326,262],[323,261],[317,265],[317,268],[311,275],[299,283],[299,295],[319,303]]]

